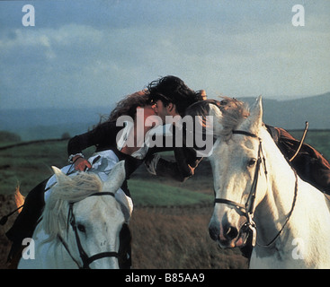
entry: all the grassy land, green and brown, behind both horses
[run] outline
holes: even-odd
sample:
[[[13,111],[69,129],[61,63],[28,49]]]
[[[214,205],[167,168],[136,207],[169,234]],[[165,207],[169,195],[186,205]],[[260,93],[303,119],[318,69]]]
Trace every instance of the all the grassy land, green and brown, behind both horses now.
[[[302,131],[291,134],[300,138]],[[330,131],[309,131],[306,142],[330,159]],[[169,154],[165,156],[171,159]],[[19,184],[22,194],[26,195],[52,175],[51,165],[67,165],[66,141],[0,150],[0,217],[13,209],[16,185]],[[136,204],[130,222],[134,268],[247,266],[239,251],[219,250],[208,234],[213,191],[207,160],[202,161],[196,174],[184,183],[151,176],[141,166],[129,179],[129,189]],[[13,219],[0,227],[0,268],[5,267],[9,248],[4,232]]]

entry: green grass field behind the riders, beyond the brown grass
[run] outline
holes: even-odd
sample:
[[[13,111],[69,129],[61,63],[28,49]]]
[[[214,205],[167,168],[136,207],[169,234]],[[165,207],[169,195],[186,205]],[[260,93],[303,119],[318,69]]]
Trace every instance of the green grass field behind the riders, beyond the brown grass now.
[[[302,131],[290,133],[296,138],[302,135]],[[306,143],[316,147],[326,159],[330,159],[329,130],[308,131]],[[0,148],[1,146],[4,143]],[[88,155],[93,151],[91,148],[86,153]],[[170,154],[166,156],[171,157]],[[22,194],[26,195],[32,187],[52,175],[52,165],[67,165],[67,141],[0,149],[0,194],[13,194],[15,187],[20,185]],[[136,204],[194,204],[210,200],[208,196],[211,195],[211,182],[210,165],[207,161],[202,161],[195,176],[183,184],[167,178],[152,177],[141,166],[129,180],[129,189]],[[206,193],[208,196],[205,196]]]

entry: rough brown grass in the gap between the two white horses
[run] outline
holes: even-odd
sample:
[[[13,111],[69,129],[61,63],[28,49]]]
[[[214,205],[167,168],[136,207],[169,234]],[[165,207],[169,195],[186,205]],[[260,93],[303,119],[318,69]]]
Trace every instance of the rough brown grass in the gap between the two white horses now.
[[[210,239],[212,208],[137,208],[130,222],[133,268],[242,269],[239,250]]]

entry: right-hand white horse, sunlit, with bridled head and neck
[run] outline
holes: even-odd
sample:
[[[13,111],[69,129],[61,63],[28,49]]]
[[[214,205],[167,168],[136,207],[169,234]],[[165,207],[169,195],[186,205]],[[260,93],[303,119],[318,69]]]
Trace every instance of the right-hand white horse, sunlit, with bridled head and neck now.
[[[330,213],[324,194],[291,169],[263,126],[261,97],[249,117],[210,110],[215,207],[210,236],[220,248],[255,244],[250,268],[330,268]]]

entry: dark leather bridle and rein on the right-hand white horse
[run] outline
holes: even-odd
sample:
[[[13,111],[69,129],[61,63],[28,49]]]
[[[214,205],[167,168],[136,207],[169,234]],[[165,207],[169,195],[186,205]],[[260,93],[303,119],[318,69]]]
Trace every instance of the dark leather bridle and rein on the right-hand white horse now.
[[[255,164],[255,170],[254,170],[254,181],[252,183],[251,189],[250,189],[250,193],[247,197],[247,200],[245,202],[245,204],[238,204],[234,201],[225,199],[225,198],[216,198],[214,200],[214,204],[228,204],[233,206],[236,209],[236,212],[239,213],[240,215],[243,215],[246,217],[247,222],[244,223],[244,225],[242,226],[242,228],[248,232],[252,232],[252,247],[255,246],[256,242],[256,224],[254,222],[254,204],[255,204],[255,194],[256,194],[256,187],[258,184],[258,179],[259,179],[259,174],[260,174],[260,166],[263,163],[263,170],[264,170],[264,174],[267,178],[267,169],[266,169],[266,162],[265,162],[265,158],[263,155],[263,146],[262,146],[262,139],[257,136],[254,135],[252,133],[249,132],[245,132],[242,130],[234,130],[233,134],[238,134],[238,135],[246,135],[246,136],[250,136],[250,137],[254,137],[256,139],[259,140],[259,148],[258,148],[258,158]],[[276,239],[278,239],[278,237],[281,235],[281,232],[284,230],[286,224],[289,222],[290,220],[290,216],[293,212],[294,206],[296,204],[296,199],[297,199],[297,194],[298,194],[298,177],[297,177],[297,173],[296,171],[294,171],[295,174],[295,178],[296,178],[296,183],[295,183],[295,191],[294,191],[294,198],[293,198],[293,202],[291,205],[291,209],[290,209],[290,213],[288,213],[286,220],[284,222],[284,224],[281,227],[281,230],[276,234],[276,236],[266,245],[261,245],[258,243],[258,246],[260,247],[269,247],[272,245],[273,242],[275,242]]]

